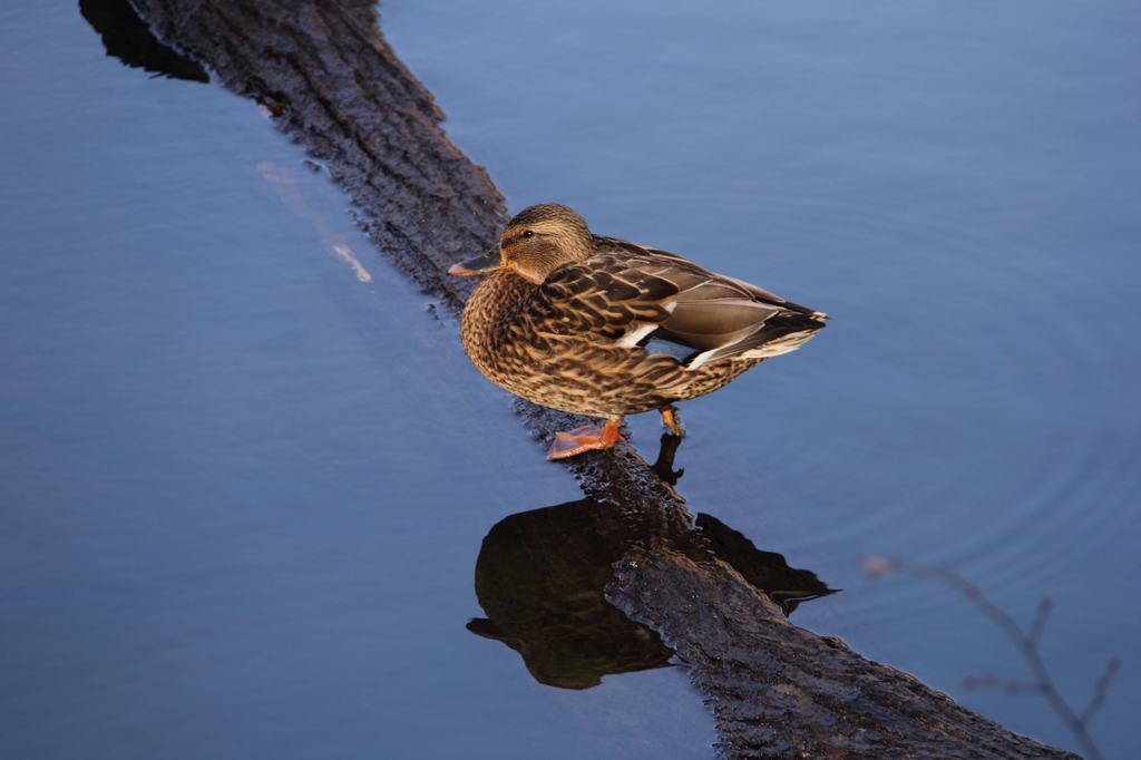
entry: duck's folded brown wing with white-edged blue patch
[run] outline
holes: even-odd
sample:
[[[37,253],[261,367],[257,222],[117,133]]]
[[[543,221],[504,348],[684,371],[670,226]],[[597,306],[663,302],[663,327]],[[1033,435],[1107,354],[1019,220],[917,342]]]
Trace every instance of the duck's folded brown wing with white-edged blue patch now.
[[[796,348],[824,315],[672,253],[596,237],[599,253],[543,283],[543,326],[616,346],[670,354],[682,364],[764,358]]]

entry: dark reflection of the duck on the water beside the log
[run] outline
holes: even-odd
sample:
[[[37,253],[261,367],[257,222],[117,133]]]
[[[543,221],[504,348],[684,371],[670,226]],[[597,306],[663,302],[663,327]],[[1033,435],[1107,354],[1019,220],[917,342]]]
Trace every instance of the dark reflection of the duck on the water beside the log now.
[[[677,483],[677,436],[663,436],[653,466]],[[780,605],[835,593],[815,573],[788,567],[715,517],[698,514],[701,531],[680,531],[661,516],[592,499],[533,509],[497,523],[476,561],[476,596],[487,617],[468,630],[496,639],[520,655],[540,684],[567,689],[598,686],[604,676],[670,664],[673,652],[646,625],[606,600],[614,564],[634,548],[669,544],[695,561],[710,555]]]

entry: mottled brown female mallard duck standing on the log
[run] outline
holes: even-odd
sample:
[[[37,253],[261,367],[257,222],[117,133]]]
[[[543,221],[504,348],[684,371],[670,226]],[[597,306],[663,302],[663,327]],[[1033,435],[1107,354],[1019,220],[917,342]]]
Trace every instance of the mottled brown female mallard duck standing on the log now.
[[[665,251],[592,235],[565,205],[520,211],[487,256],[463,309],[463,347],[495,385],[542,406],[605,417],[556,434],[549,459],[624,440],[622,418],[712,393],[786,354],[827,316]]]

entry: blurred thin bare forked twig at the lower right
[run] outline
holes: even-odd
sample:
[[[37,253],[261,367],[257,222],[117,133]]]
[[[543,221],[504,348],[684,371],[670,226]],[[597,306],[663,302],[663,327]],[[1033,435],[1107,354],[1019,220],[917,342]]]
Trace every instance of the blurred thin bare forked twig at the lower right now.
[[[903,572],[913,577],[938,581],[944,585],[950,587],[955,591],[958,591],[960,595],[974,605],[976,609],[989,617],[1003,631],[1005,631],[1006,636],[1014,642],[1019,652],[1022,653],[1022,657],[1026,660],[1035,678],[1034,684],[1018,684],[1014,681],[1003,681],[994,678],[993,676],[984,676],[981,678],[968,677],[963,679],[963,686],[966,688],[996,689],[1010,695],[1041,694],[1058,717],[1061,718],[1062,722],[1066,723],[1067,728],[1070,729],[1070,733],[1074,734],[1074,737],[1082,745],[1087,760],[1101,760],[1101,751],[1094,743],[1093,737],[1090,736],[1087,727],[1093,717],[1106,703],[1106,693],[1108,692],[1114,677],[1117,674],[1117,671],[1120,669],[1120,660],[1116,655],[1110,658],[1109,664],[1106,666],[1106,671],[1098,679],[1090,705],[1081,715],[1078,715],[1054,687],[1053,679],[1050,677],[1050,671],[1046,669],[1046,664],[1043,662],[1042,655],[1038,653],[1038,641],[1041,640],[1043,629],[1046,625],[1046,617],[1050,615],[1050,611],[1053,609],[1052,599],[1045,598],[1038,603],[1034,623],[1030,625],[1029,632],[1026,632],[1022,630],[1022,626],[1019,625],[1018,622],[1015,622],[1014,618],[1011,617],[1004,609],[987,599],[982,595],[979,587],[974,585],[954,571],[949,571],[944,567],[931,567],[929,565],[922,565],[920,563],[913,563],[899,558],[885,559],[883,557],[865,557],[864,569],[873,579],[876,579],[884,573]]]

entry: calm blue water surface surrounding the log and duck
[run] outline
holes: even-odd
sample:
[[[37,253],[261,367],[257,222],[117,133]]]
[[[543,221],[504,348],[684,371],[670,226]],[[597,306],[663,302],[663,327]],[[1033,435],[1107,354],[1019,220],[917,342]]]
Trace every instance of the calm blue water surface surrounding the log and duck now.
[[[961,686],[1029,678],[989,621],[859,559],[1053,597],[1059,688],[1122,655],[1092,733],[1136,754],[1135,6],[381,10],[510,210],[834,317],[682,406],[694,511],[844,589],[793,622],[1077,749]],[[0,754],[710,757],[677,669],[555,689],[464,630],[491,526],[578,491],[252,103],[67,5],[0,9]]]

